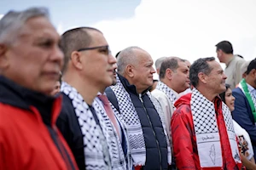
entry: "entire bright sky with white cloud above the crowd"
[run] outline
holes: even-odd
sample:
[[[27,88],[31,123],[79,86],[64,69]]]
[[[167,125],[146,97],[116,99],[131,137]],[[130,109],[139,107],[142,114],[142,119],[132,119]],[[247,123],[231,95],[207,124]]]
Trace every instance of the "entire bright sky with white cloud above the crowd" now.
[[[235,54],[256,57],[255,0],[2,0],[0,14],[31,6],[48,7],[60,34],[96,27],[113,54],[139,46],[154,60],[177,56],[193,62],[216,57],[215,44],[228,40]]]

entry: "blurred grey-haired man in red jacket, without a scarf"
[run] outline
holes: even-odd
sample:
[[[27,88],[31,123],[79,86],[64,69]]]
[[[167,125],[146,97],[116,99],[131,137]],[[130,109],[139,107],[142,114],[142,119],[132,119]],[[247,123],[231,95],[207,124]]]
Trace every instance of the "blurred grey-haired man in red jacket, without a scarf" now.
[[[60,37],[46,8],[10,11],[0,20],[0,169],[78,169],[55,126],[61,98]]]

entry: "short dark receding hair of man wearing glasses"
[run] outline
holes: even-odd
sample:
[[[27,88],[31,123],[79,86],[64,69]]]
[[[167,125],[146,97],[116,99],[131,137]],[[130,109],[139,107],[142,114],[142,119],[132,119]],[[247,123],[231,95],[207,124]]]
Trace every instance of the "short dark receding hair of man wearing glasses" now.
[[[66,71],[67,63],[72,52],[78,50],[79,48],[89,47],[92,39],[92,37],[90,37],[89,31],[99,30],[91,27],[78,27],[68,30],[62,34],[60,42],[60,48],[64,54],[64,66],[62,69],[62,74],[64,74]]]

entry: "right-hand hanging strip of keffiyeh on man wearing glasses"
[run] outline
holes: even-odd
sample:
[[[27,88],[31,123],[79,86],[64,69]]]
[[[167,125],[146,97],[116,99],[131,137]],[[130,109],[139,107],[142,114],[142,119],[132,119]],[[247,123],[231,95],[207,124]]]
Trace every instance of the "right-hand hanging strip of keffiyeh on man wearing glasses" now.
[[[131,165],[126,165],[125,155],[122,150],[122,145],[117,135],[116,129],[113,127],[113,123],[108,118],[102,101],[96,97],[93,102],[93,107],[96,110],[96,115],[99,117],[99,122],[101,124],[103,134],[105,135],[106,142],[108,144],[108,150],[110,154],[110,160],[113,170],[125,170],[131,169]],[[121,125],[120,125],[121,126]],[[130,161],[130,160],[128,160]],[[128,167],[129,166],[129,167]]]

